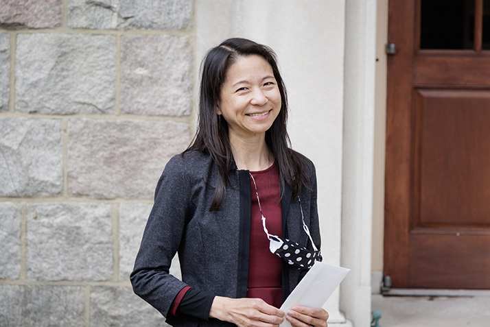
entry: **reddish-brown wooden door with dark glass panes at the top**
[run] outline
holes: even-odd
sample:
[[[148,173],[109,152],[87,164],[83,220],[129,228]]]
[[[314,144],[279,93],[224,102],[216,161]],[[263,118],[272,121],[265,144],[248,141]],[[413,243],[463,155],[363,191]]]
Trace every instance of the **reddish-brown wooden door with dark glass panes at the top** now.
[[[384,276],[490,289],[490,0],[392,0]]]

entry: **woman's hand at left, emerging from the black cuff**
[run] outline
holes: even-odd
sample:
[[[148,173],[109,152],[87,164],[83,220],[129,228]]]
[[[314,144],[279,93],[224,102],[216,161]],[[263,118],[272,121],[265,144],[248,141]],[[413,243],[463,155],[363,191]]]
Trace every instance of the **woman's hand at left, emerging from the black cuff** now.
[[[231,322],[240,327],[279,327],[284,311],[261,299],[232,299],[216,296],[209,311],[210,318]]]

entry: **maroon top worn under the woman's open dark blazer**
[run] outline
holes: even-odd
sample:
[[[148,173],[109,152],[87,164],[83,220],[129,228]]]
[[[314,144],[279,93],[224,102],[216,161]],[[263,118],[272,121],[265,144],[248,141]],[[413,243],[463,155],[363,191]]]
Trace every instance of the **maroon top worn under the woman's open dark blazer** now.
[[[277,163],[263,171],[250,171],[257,184],[262,213],[266,217],[269,234],[282,236],[281,191]],[[269,250],[267,238],[257,202],[255,185],[252,187],[252,221],[250,227],[250,256],[248,259],[247,298],[261,298],[279,308],[282,304],[282,261]]]

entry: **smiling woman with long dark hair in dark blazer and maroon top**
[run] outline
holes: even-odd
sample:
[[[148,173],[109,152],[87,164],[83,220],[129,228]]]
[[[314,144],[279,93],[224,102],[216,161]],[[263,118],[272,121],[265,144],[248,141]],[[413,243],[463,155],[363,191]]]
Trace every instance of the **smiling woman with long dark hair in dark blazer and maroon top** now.
[[[156,186],[135,293],[173,326],[327,326],[323,309],[279,310],[307,271],[302,260],[320,260],[320,233],[314,165],[289,148],[272,49],[242,38],[211,49],[199,109],[193,143]],[[176,252],[183,281],[169,274]]]

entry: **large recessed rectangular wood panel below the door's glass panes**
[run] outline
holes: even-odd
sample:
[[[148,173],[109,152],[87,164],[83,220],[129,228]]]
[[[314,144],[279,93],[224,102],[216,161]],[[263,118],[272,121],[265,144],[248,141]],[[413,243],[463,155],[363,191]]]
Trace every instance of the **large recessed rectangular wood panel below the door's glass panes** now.
[[[413,228],[488,228],[490,90],[418,89],[415,103]]]

